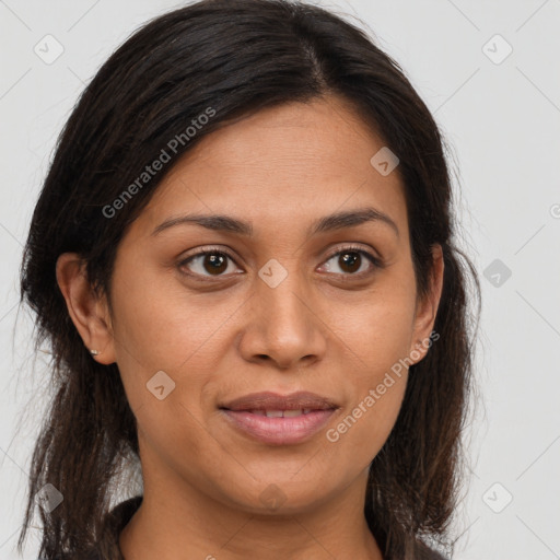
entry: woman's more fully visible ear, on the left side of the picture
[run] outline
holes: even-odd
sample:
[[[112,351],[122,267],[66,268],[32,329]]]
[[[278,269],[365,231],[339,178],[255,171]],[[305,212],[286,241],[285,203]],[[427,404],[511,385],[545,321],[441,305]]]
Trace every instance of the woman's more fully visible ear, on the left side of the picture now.
[[[85,262],[77,253],[58,257],[57,282],[65,296],[68,313],[89,350],[96,350],[94,360],[105,365],[114,363],[115,345],[108,305],[95,293],[86,273]]]

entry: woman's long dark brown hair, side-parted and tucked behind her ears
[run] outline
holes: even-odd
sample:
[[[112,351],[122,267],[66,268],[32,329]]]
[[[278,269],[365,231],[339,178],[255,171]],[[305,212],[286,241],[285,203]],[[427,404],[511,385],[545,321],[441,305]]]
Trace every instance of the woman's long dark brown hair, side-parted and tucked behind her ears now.
[[[79,253],[92,285],[110,294],[119,241],[182,154],[229,120],[325,94],[348,100],[398,154],[419,296],[429,288],[434,244],[445,265],[440,339],[410,368],[397,422],[371,464],[364,515],[386,558],[410,558],[422,540],[452,549],[476,332],[468,300],[480,301],[480,288],[455,245],[439,127],[398,63],[343,19],[295,1],[203,0],[149,22],[103,65],[59,137],[36,205],[21,291],[36,313],[37,347],[51,349],[54,398],[33,453],[20,551],[35,494],[50,483],[63,501],[50,513],[38,509],[39,553],[84,552],[101,535],[127,459],[139,462],[117,364],[102,365],[84,348],[57,285],[58,256]],[[173,144],[174,162],[107,215],[208,107],[212,118]]]

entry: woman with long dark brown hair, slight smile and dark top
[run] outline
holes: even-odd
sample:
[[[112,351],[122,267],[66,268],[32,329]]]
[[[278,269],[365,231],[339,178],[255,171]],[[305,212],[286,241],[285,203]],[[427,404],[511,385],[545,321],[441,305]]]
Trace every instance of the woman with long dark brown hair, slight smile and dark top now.
[[[451,195],[428,108],[338,16],[205,0],[135,33],[25,247],[56,397],[20,547],[38,501],[47,559],[451,553],[478,288]]]

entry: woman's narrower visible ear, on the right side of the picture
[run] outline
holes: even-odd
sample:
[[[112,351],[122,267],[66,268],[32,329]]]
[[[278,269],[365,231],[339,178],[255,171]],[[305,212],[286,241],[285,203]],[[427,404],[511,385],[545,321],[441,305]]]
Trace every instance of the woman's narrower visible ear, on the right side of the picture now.
[[[409,355],[411,359],[412,357],[418,357],[418,354],[420,354],[420,357],[415,358],[412,363],[418,363],[423,360],[428,353],[428,349],[432,346],[432,340],[438,340],[440,338],[438,332],[431,335],[443,289],[444,264],[443,250],[440,244],[434,245],[432,248],[432,273],[430,276],[428,294],[417,302],[415,313],[413,332]]]

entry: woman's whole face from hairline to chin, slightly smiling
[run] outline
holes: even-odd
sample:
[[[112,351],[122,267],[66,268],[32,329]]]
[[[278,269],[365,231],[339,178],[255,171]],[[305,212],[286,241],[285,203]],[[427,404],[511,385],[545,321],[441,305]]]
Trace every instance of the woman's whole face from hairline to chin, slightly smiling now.
[[[144,489],[246,512],[363,499],[440,295],[417,305],[383,147],[337,97],[266,109],[206,137],[133,222],[92,347],[118,364]],[[296,392],[315,397],[275,400]]]

